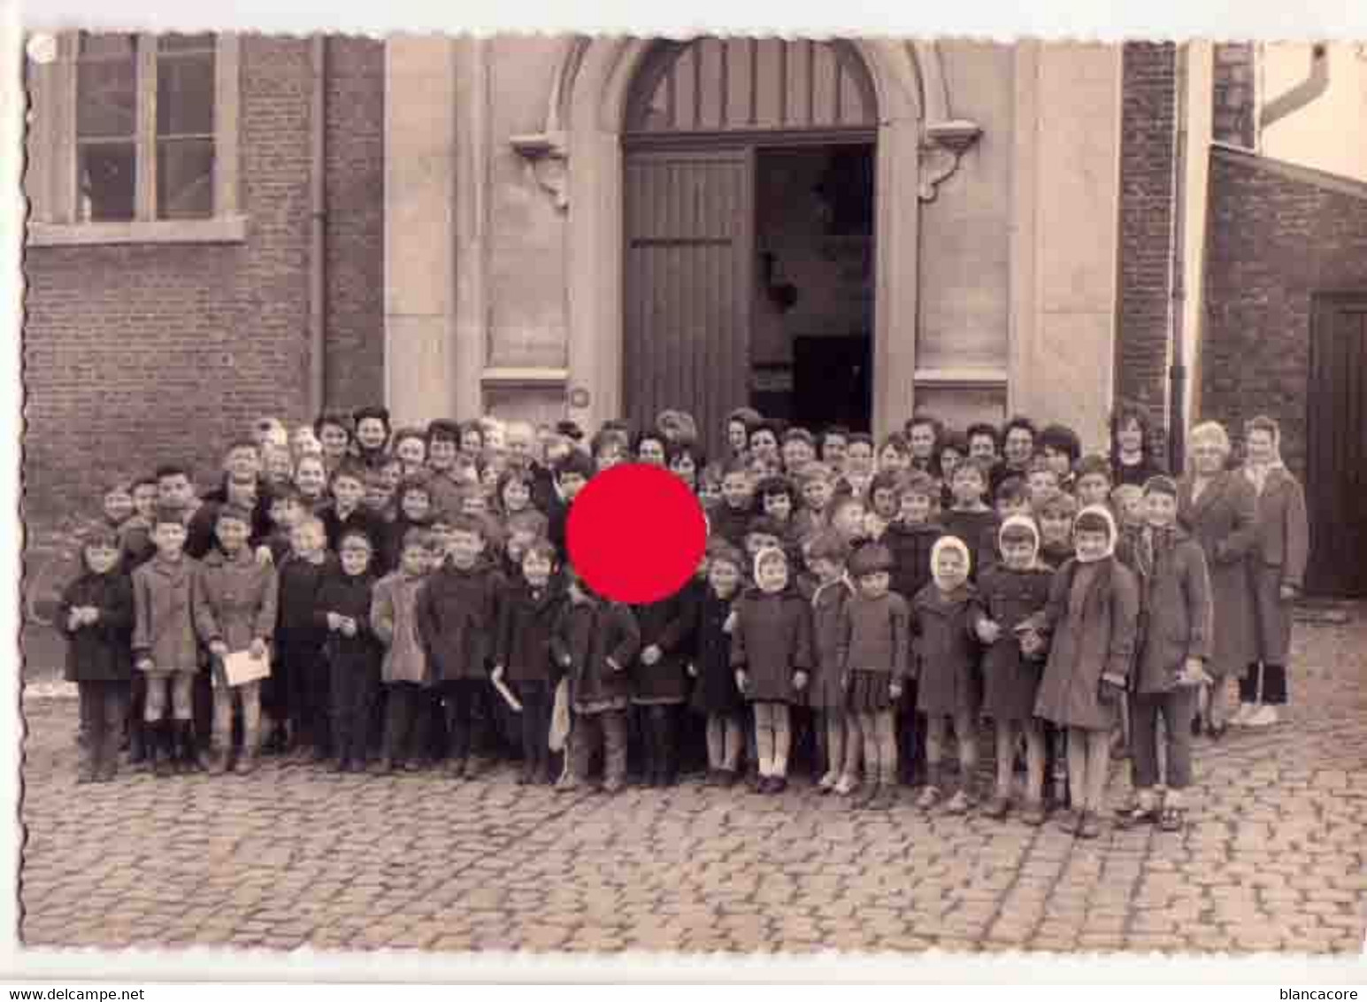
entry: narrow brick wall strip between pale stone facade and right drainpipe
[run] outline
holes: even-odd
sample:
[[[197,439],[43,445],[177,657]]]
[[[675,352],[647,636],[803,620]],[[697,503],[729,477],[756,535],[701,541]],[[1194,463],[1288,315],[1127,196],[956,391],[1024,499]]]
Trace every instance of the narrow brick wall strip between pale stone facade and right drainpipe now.
[[[1115,395],[1166,425],[1176,48],[1126,42],[1122,79]]]

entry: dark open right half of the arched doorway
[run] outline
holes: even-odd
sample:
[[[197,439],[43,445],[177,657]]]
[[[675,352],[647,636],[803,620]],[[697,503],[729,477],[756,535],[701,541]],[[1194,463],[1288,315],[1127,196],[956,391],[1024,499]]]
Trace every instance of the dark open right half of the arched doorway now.
[[[868,431],[874,146],[760,149],[755,185],[755,323],[772,329],[752,331],[750,403],[812,431]]]

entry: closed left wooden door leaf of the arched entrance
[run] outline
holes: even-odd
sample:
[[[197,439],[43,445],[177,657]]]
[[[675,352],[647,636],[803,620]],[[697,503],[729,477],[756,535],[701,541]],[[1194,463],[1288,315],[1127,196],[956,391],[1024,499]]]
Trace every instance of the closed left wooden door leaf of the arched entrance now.
[[[708,457],[749,402],[752,178],[748,149],[626,157],[626,417],[689,410]]]

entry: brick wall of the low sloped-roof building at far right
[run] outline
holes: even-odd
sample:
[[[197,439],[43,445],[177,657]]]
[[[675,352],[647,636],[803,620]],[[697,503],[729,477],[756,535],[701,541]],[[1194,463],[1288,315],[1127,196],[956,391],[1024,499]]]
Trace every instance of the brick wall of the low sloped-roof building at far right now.
[[[1367,186],[1214,150],[1200,413],[1239,437],[1266,413],[1305,474],[1311,297],[1367,291]]]

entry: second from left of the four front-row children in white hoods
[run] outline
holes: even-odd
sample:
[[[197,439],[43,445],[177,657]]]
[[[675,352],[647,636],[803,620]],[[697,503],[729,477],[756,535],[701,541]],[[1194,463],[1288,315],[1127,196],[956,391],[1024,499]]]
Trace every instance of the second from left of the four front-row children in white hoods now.
[[[925,714],[925,789],[916,801],[923,811],[934,808],[943,796],[940,763],[950,725],[958,741],[960,786],[946,811],[965,813],[973,804],[977,715],[983,700],[977,670],[977,622],[983,610],[977,591],[968,582],[972,559],[964,540],[942,536],[931,551],[934,581],[912,601],[912,636],[920,681],[916,705]]]

